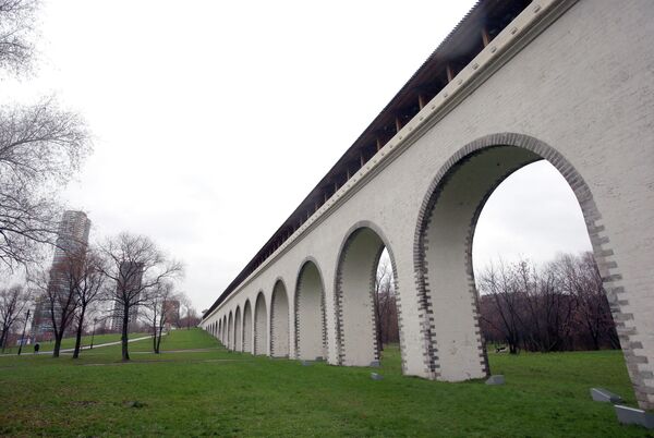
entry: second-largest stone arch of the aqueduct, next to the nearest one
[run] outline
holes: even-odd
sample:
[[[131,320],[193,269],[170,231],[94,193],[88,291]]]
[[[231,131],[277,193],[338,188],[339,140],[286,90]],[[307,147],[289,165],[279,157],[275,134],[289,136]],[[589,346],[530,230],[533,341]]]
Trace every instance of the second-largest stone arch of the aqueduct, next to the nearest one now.
[[[386,247],[395,279],[400,350],[402,369],[404,369],[401,306],[392,248],[380,229],[370,221],[355,223],[346,235],[339,250],[335,280],[338,364],[370,366],[379,361],[374,294],[377,265]]]

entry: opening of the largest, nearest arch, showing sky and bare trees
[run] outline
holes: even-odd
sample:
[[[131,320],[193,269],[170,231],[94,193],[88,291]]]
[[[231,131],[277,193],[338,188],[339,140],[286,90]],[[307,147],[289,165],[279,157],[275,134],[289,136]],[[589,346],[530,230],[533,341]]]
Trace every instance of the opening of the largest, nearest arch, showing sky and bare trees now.
[[[547,160],[516,171],[488,197],[472,259],[491,365],[500,352],[620,348],[583,214]]]

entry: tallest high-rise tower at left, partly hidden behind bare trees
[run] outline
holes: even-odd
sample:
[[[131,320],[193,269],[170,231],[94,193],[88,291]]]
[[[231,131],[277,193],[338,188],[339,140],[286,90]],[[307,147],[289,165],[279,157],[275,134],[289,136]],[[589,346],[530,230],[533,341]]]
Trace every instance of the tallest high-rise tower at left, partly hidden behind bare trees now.
[[[50,283],[48,285],[56,293],[66,287],[66,273],[62,269],[66,254],[86,246],[89,232],[90,220],[84,211],[66,210],[63,212],[57,232],[55,255],[50,268]],[[53,330],[50,304],[46,295],[36,299],[32,327],[34,334],[39,338],[47,337]]]

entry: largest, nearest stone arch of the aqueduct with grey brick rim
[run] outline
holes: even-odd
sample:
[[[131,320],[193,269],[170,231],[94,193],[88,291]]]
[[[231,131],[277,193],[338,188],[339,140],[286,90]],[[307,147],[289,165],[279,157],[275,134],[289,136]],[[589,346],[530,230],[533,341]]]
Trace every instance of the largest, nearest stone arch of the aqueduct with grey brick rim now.
[[[522,167],[546,159],[566,179],[579,202],[619,326],[611,287],[608,239],[601,236],[601,215],[583,178],[549,145],[534,137],[502,133],[459,149],[439,169],[423,199],[414,236],[414,269],[421,331],[425,333],[425,372],[448,381],[486,376],[488,361],[479,327],[472,241],[480,214],[497,186]],[[462,293],[463,291],[463,293]],[[625,354],[629,357],[629,345]],[[633,379],[633,377],[632,377]]]

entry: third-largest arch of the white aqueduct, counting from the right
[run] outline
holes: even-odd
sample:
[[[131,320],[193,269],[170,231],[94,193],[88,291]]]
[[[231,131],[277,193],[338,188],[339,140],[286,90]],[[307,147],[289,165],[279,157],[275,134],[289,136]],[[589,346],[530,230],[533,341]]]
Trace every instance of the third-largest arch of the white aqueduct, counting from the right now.
[[[295,284],[295,356],[307,361],[326,358],[325,283],[313,257],[300,265]]]

